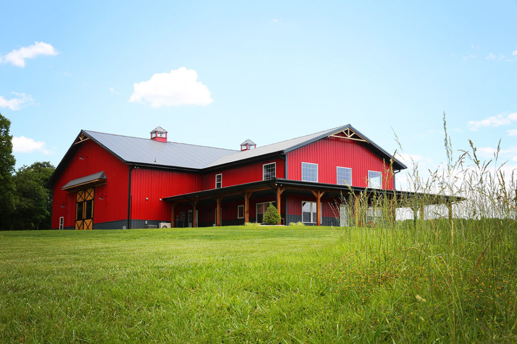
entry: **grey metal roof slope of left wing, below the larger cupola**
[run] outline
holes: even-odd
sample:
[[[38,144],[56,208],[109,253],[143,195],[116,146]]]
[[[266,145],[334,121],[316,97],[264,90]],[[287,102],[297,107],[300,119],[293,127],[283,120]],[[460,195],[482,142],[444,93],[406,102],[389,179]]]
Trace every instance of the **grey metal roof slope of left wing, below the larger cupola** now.
[[[235,150],[195,146],[175,142],[156,142],[148,138],[83,131],[88,137],[126,163],[149,166],[203,168]]]

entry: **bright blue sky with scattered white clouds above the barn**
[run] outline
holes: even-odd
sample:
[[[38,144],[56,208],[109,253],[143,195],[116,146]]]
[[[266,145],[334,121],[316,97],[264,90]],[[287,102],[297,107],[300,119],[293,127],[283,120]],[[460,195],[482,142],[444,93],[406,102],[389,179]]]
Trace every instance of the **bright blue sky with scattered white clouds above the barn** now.
[[[422,169],[517,166],[517,2],[0,1],[17,167],[81,129],[238,149],[350,123]],[[392,129],[397,133],[402,151]],[[398,175],[400,176],[400,175]]]

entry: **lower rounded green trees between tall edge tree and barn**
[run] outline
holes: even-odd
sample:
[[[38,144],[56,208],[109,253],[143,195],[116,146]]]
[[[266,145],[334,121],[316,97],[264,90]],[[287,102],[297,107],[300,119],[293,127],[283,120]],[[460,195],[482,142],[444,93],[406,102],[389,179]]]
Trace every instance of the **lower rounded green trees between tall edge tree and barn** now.
[[[17,207],[12,216],[14,228],[50,229],[52,190],[47,189],[45,184],[53,172],[54,166],[48,161],[18,169],[14,175],[18,193]]]

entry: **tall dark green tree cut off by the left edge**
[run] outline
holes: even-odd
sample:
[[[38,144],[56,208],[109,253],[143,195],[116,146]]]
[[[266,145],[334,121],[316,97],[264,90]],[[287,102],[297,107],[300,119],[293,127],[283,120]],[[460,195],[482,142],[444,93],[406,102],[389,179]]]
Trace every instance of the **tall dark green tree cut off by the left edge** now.
[[[16,160],[12,155],[10,127],[11,121],[0,114],[0,229],[9,229],[8,219],[17,203],[12,176]]]

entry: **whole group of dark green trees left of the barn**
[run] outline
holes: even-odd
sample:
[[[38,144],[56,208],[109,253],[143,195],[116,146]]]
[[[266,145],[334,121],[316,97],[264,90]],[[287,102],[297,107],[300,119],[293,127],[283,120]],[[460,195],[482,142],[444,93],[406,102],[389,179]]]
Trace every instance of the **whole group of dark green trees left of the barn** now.
[[[16,170],[10,126],[0,114],[0,230],[50,229],[52,190],[45,184],[55,168],[45,161]]]

